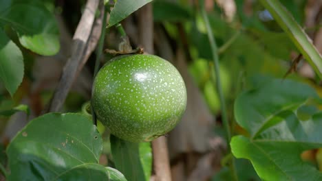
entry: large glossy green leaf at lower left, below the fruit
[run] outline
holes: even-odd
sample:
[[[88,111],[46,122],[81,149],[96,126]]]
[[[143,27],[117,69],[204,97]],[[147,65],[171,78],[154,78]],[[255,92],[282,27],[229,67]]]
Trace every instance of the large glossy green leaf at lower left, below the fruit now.
[[[98,165],[101,151],[102,138],[86,116],[45,114],[8,145],[8,180],[108,180]]]

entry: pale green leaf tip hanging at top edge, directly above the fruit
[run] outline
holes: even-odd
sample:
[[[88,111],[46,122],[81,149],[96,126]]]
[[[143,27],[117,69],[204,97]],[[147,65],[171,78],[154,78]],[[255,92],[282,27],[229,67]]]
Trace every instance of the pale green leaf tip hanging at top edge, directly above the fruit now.
[[[151,2],[152,0],[119,0],[116,1],[114,8],[111,10],[111,14],[109,16],[109,25],[111,27],[119,23],[127,16],[141,8],[143,5]]]

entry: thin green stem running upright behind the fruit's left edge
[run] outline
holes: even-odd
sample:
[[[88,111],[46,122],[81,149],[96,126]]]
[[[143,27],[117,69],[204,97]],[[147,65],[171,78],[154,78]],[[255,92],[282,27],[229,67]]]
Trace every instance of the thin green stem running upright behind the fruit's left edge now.
[[[96,48],[96,60],[95,60],[95,67],[94,67],[94,78],[96,77],[96,74],[98,73],[98,70],[100,69],[100,57],[102,56],[103,47],[104,47],[104,40],[105,40],[105,32],[106,32],[106,19],[107,19],[107,6],[105,6],[104,16],[103,16],[103,25],[102,25],[102,33],[100,34],[100,40],[98,40],[98,46]],[[93,104],[92,104],[93,105]],[[96,114],[94,112],[93,106],[91,106],[92,109],[92,118],[94,125],[97,125],[96,120]]]

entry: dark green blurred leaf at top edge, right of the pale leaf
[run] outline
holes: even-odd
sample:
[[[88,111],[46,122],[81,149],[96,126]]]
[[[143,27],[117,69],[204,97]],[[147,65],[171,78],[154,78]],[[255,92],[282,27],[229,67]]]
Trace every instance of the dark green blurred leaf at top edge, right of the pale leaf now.
[[[153,1],[153,21],[186,21],[191,19],[191,10],[171,1]]]

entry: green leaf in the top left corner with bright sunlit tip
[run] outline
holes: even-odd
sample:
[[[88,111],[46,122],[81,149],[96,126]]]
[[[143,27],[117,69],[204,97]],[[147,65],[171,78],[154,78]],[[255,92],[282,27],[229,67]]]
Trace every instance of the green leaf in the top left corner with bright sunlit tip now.
[[[59,50],[58,26],[41,1],[0,1],[0,24],[17,31],[23,47],[43,56],[52,56]]]

